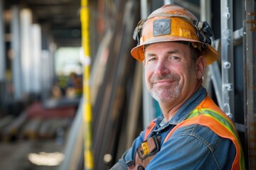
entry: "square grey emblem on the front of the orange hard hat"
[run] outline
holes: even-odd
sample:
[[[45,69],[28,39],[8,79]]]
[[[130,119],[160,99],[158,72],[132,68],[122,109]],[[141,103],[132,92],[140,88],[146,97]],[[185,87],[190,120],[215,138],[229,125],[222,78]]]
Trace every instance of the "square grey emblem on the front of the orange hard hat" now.
[[[169,35],[171,33],[171,19],[158,19],[153,24],[154,37],[159,35]]]

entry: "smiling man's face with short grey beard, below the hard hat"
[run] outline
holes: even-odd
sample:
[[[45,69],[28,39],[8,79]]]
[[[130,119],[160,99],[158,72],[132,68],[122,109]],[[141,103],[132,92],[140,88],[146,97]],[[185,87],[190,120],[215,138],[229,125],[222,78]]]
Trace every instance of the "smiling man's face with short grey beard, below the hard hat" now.
[[[146,86],[159,103],[185,100],[203,76],[191,59],[188,45],[178,42],[159,42],[146,47],[144,67]]]

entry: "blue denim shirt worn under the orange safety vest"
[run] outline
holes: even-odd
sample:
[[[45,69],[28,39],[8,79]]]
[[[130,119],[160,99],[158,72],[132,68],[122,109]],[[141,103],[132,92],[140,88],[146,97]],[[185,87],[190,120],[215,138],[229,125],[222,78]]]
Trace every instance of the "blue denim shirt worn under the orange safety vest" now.
[[[156,118],[156,126],[149,136],[161,136],[161,149],[146,169],[231,169],[235,159],[233,142],[216,135],[208,127],[194,124],[178,128],[169,140],[164,142],[166,135],[185,120],[188,113],[193,111],[206,95],[206,89],[201,86],[168,123],[160,126],[164,116]],[[134,160],[137,147],[144,141],[144,133],[145,131],[134,140],[132,147],[124,152],[112,170],[128,169],[126,162]]]

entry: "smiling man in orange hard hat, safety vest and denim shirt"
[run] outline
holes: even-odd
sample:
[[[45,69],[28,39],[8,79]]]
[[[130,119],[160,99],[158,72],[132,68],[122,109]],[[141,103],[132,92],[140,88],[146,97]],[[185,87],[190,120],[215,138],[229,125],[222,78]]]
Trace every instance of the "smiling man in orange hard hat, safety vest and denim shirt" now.
[[[166,5],[139,22],[132,56],[162,111],[112,169],[245,169],[232,121],[202,86],[217,59],[210,27],[180,6]]]

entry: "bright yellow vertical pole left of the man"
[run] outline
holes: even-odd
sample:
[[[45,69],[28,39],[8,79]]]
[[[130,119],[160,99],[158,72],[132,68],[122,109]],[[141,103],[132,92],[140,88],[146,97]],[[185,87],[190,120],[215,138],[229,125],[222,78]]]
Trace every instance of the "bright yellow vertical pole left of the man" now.
[[[83,136],[85,170],[93,169],[92,157],[92,107],[90,103],[90,37],[89,37],[89,6],[88,0],[81,0],[81,30],[83,50]]]

